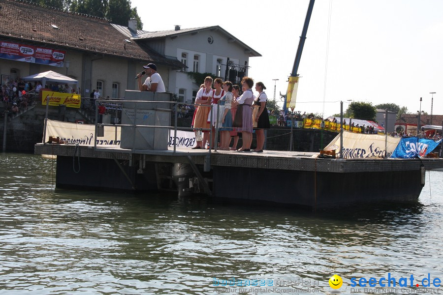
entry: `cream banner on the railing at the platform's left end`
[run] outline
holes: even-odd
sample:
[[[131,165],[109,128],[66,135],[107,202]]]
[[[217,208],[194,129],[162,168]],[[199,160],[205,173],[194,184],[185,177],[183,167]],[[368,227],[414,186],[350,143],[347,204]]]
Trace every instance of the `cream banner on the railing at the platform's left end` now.
[[[103,145],[120,145],[120,130],[117,127],[117,140],[115,134],[115,127],[103,126],[104,136],[97,137],[97,146]],[[94,146],[95,125],[91,124],[76,124],[61,122],[55,120],[48,120],[46,124],[46,138],[44,142],[49,141],[49,137],[60,137],[60,140],[70,144],[79,144],[82,146]]]

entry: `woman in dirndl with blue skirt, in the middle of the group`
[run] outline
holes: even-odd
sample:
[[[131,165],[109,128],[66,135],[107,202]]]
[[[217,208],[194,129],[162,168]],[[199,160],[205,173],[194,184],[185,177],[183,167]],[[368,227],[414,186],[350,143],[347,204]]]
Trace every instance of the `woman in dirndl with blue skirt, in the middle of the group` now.
[[[221,128],[220,138],[222,150],[229,150],[229,143],[231,136],[229,132],[232,130],[232,115],[231,115],[231,103],[233,99],[232,95],[232,83],[227,81],[223,83],[223,90],[226,92],[220,100],[220,113],[221,113]],[[223,107],[223,108],[222,108]],[[221,112],[223,110],[223,112]]]

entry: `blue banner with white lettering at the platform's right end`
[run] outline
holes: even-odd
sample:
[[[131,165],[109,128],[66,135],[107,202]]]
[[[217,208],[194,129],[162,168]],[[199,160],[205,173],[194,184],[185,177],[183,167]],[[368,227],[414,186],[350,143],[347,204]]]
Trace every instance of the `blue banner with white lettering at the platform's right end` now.
[[[441,141],[435,142],[432,139],[417,139],[416,137],[402,138],[392,153],[391,158],[424,157],[436,148]]]

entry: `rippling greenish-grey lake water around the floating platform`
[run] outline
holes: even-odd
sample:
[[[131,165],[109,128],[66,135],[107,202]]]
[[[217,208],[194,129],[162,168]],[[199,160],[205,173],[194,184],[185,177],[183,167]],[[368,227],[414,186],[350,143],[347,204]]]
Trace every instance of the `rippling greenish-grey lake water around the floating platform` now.
[[[426,172],[412,204],[314,213],[55,189],[53,169],[0,154],[1,294],[443,294],[421,286],[443,281],[443,172]],[[388,273],[420,287],[351,289]]]

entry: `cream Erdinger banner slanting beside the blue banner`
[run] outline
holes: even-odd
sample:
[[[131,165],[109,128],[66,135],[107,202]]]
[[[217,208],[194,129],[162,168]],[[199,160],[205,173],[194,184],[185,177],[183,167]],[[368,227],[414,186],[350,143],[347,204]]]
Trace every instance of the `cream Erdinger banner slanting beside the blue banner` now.
[[[347,159],[384,158],[385,138],[384,135],[343,131],[343,157]],[[387,157],[390,157],[399,141],[400,138],[387,137]],[[340,157],[340,134],[324,149],[335,150],[335,154]]]

